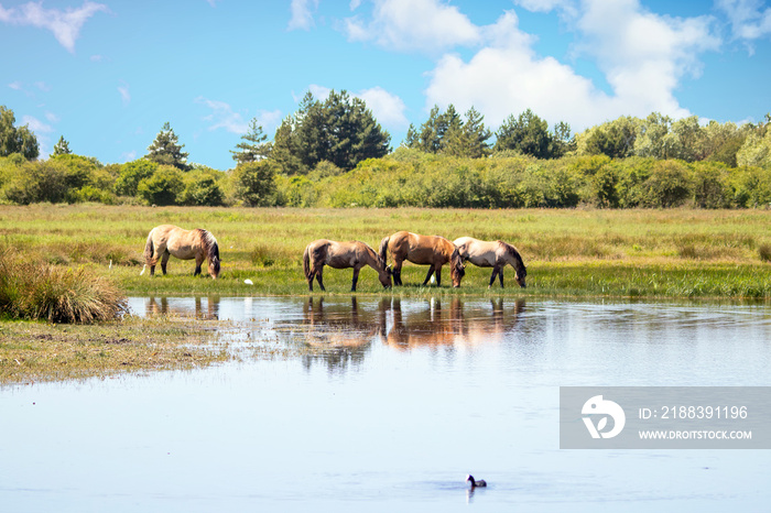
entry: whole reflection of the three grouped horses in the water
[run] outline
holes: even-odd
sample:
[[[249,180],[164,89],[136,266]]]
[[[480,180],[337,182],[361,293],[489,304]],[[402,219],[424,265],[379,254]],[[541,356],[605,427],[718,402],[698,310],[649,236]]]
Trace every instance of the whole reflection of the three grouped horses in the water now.
[[[524,301],[464,302],[428,298],[424,301],[384,297],[360,303],[311,296],[303,304],[302,318],[276,326],[279,332],[323,351],[307,354],[310,368],[323,361],[329,370],[358,365],[374,343],[399,351],[419,348],[454,351],[457,347],[499,343],[514,329]]]

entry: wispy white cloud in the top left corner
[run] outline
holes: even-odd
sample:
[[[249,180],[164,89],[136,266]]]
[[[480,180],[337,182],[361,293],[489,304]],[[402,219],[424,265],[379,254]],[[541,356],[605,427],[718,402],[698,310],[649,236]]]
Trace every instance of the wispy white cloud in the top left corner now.
[[[0,6],[0,21],[15,25],[32,25],[50,30],[56,41],[70,53],[75,52],[75,40],[84,23],[97,12],[109,12],[104,3],[85,1],[78,9],[45,9],[43,2],[28,2],[18,8]]]

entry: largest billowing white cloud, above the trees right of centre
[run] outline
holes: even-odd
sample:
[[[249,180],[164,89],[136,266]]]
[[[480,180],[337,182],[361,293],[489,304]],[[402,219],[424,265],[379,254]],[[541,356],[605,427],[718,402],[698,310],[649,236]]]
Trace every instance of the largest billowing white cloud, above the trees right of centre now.
[[[574,131],[626,114],[688,114],[674,92],[684,76],[699,73],[697,55],[719,47],[712,19],[656,15],[638,0],[585,0],[577,7],[576,50],[597,63],[611,92],[571,66],[539,56],[534,39],[507,12],[485,28],[485,46],[469,61],[452,54],[438,61],[426,107],[475,106],[490,125],[531,108],[551,123],[568,122]]]

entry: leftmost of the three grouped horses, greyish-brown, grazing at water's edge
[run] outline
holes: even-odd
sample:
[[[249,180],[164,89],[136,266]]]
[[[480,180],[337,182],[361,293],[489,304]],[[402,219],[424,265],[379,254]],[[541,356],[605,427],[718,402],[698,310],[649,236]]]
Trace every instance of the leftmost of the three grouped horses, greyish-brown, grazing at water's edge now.
[[[369,265],[378,272],[380,283],[384,287],[391,286],[391,270],[386,266],[386,262],[378,256],[372,248],[359,242],[336,242],[334,240],[318,239],[311,242],[303,253],[303,269],[305,279],[308,281],[308,290],[313,292],[313,279],[318,282],[318,286],[324,288],[323,275],[324,265],[333,269],[354,268],[354,282],[350,292],[356,292],[356,282],[359,281],[359,271],[365,265]]]

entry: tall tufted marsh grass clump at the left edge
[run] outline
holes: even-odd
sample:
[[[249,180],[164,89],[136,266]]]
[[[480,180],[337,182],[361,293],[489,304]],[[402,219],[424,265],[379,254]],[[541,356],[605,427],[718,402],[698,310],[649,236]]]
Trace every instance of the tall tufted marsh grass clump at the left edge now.
[[[123,293],[105,276],[84,268],[57,268],[0,251],[0,310],[12,318],[90,324],[119,317]]]

